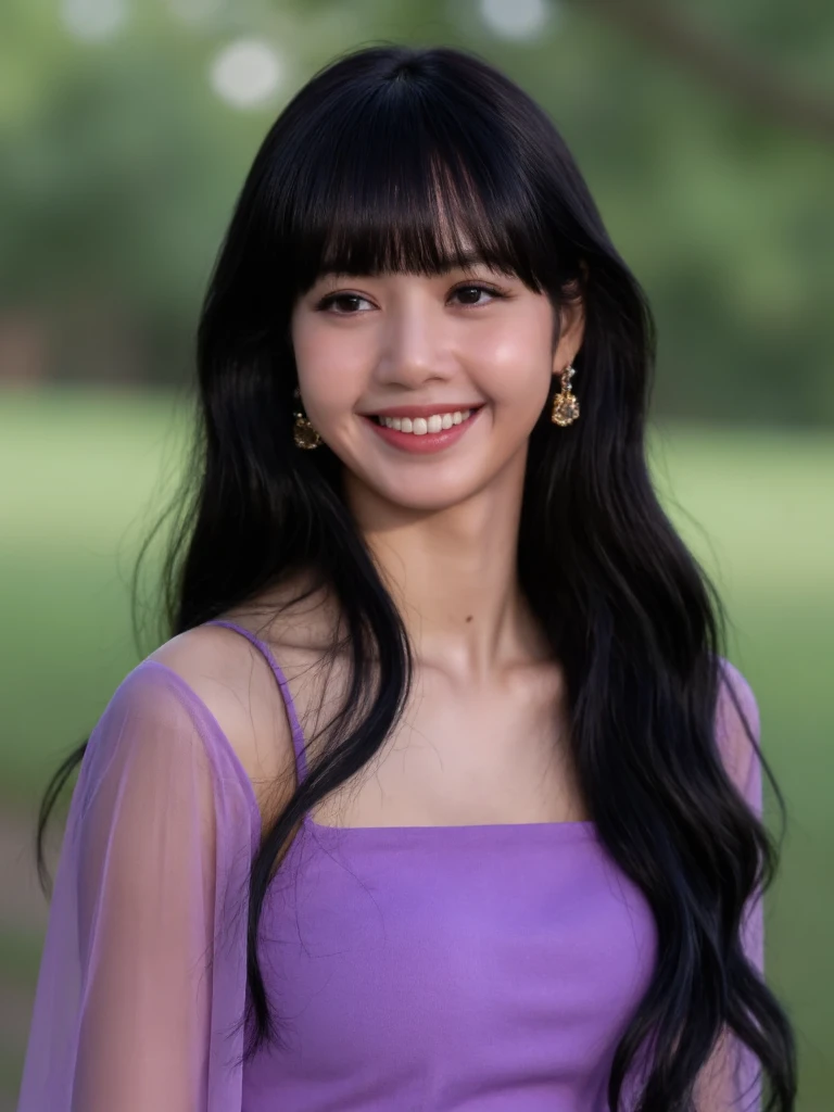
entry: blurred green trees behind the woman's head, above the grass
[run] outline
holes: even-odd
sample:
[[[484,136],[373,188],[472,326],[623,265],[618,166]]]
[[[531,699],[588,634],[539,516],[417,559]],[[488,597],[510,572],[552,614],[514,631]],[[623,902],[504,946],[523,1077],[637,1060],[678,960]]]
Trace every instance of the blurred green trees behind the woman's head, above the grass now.
[[[24,351],[27,374],[180,380],[281,103],[348,48],[448,43],[518,80],[576,153],[658,316],[658,411],[834,419],[830,106],[800,91],[831,72],[831,6],[108,3],[87,38],[71,0],[0,9],[0,377]],[[236,97],[252,41],[280,80],[260,96],[249,67]]]

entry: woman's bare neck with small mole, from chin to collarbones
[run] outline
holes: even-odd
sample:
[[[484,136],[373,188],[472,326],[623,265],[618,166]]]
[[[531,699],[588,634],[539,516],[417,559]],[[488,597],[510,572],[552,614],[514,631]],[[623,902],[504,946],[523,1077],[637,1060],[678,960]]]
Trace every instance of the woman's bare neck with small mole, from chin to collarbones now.
[[[404,509],[346,477],[346,494],[416,656],[486,679],[546,655],[518,584],[524,470],[508,469],[463,504]]]

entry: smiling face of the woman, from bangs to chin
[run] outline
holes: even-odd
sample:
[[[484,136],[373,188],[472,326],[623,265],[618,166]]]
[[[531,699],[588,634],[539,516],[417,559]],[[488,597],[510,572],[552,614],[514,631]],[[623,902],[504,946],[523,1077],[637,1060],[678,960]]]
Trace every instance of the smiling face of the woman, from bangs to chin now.
[[[578,305],[556,351],[554,320],[546,295],[478,261],[439,277],[326,275],[291,317],[301,400],[351,483],[446,508],[523,474],[552,375],[582,342]]]

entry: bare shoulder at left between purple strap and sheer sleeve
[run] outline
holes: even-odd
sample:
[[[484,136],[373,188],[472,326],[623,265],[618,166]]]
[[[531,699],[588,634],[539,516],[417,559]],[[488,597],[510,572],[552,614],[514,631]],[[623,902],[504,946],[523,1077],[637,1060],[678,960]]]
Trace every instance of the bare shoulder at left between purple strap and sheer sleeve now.
[[[295,753],[280,688],[264,655],[232,629],[198,626],[149,658],[176,672],[211,712],[252,783],[261,814],[281,810],[296,786]]]

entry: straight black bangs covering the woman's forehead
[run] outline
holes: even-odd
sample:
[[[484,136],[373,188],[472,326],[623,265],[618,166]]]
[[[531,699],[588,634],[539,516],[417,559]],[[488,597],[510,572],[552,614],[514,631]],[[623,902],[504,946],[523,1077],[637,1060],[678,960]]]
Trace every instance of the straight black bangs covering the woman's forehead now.
[[[447,99],[437,82],[377,77],[292,130],[292,181],[277,195],[296,295],[327,272],[437,275],[478,260],[536,292],[547,286],[553,238],[518,142],[465,90]]]

